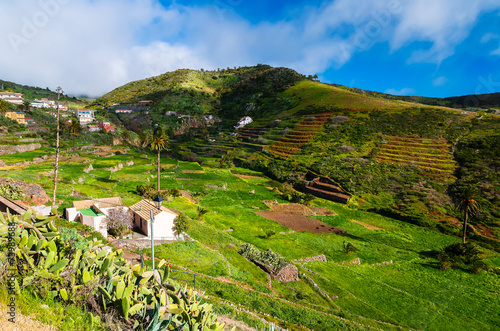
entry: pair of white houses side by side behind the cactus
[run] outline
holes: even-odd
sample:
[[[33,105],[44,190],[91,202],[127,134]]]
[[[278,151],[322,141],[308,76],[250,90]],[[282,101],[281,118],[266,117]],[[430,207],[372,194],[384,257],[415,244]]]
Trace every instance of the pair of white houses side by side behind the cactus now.
[[[119,197],[74,201],[72,208],[66,208],[65,216],[68,221],[79,220],[85,225],[92,226],[106,238],[108,236],[106,221],[113,209],[130,211],[134,225],[149,238],[151,238],[150,217],[151,211],[153,211],[154,239],[178,239],[174,231],[175,219],[178,214],[164,206],[158,209],[152,201],[147,199],[142,199],[130,207],[125,206]]]

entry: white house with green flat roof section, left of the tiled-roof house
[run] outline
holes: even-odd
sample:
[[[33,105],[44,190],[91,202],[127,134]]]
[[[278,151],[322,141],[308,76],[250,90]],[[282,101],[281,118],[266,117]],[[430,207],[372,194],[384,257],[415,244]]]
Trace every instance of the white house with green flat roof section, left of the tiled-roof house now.
[[[105,222],[110,209],[127,208],[120,197],[94,200],[73,201],[73,208],[66,208],[66,219],[70,222],[80,220],[82,224],[93,227],[104,238],[108,237]]]

